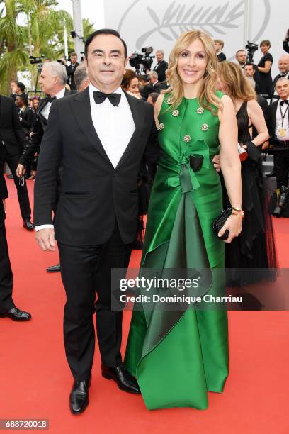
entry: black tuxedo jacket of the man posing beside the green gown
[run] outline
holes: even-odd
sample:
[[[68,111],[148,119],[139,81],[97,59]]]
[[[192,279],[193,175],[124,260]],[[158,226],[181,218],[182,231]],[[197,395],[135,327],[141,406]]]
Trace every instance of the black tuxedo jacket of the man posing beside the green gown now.
[[[128,99],[135,131],[116,168],[92,123],[89,89],[52,104],[38,159],[34,224],[52,223],[57,168],[62,165],[54,219],[55,237],[60,243],[106,243],[115,221],[123,243],[135,240],[140,162],[143,157],[148,163],[157,162],[159,145],[153,106],[134,96],[123,96]]]

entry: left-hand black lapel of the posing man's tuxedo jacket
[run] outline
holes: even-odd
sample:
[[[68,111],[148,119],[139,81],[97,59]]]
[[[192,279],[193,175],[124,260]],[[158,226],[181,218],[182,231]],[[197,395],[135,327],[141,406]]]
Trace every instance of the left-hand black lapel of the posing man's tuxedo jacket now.
[[[103,158],[105,158],[112,165],[111,160],[108,158],[108,155],[101,144],[101,140],[99,139],[92,122],[89,88],[87,87],[84,91],[75,94],[73,101],[77,101],[77,104],[72,104],[72,111],[82,132],[86,138],[88,138],[91,145],[93,145],[94,148],[96,148],[96,150],[98,150],[98,152],[103,156]]]

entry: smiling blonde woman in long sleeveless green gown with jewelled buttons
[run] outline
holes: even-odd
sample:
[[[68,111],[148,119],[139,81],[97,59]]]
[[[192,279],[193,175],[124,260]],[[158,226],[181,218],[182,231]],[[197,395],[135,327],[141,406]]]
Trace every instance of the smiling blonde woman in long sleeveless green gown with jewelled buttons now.
[[[217,56],[208,35],[179,37],[169,59],[169,92],[156,104],[160,157],[152,187],[142,255],[145,269],[222,269],[225,245],[212,232],[222,190],[212,158],[220,152],[232,207],[241,210],[237,122],[228,96],[215,91]],[[219,146],[220,145],[220,146]],[[202,157],[196,169],[191,157]],[[190,164],[191,162],[191,164]],[[195,170],[195,171],[194,171]],[[221,230],[239,235],[241,212]],[[223,282],[213,282],[214,291]],[[219,287],[220,289],[220,287]],[[228,374],[227,312],[135,309],[125,365],[137,377],[147,408],[208,407]]]

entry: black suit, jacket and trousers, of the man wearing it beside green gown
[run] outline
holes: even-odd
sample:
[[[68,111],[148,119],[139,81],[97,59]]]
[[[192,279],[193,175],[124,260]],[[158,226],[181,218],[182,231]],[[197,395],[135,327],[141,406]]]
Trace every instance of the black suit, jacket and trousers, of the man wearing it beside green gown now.
[[[137,174],[142,157],[158,157],[153,107],[128,94],[135,132],[116,168],[91,120],[89,89],[55,101],[35,182],[35,225],[52,223],[57,168],[62,190],[55,215],[62,281],[67,293],[64,343],[76,379],[91,373],[94,299],[104,365],[121,362],[121,311],[111,311],[111,268],[128,266],[137,229]]]

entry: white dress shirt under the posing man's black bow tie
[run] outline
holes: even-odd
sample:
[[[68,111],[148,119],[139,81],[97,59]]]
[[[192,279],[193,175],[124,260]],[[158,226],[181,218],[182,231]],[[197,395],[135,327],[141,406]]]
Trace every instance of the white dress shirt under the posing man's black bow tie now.
[[[91,119],[103,149],[111,164],[115,168],[135,131],[135,122],[132,118],[130,104],[121,87],[113,93],[121,94],[120,104],[117,107],[111,104],[108,98],[103,103],[96,104],[94,91],[99,91],[89,84],[89,100],[91,105]],[[47,104],[48,105],[48,104]],[[50,103],[51,106],[51,103]],[[41,112],[42,113],[42,112]],[[42,113],[43,114],[43,113]],[[53,225],[35,226],[36,232],[41,229],[53,228]]]

